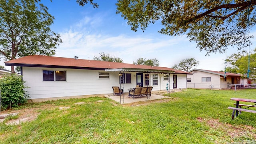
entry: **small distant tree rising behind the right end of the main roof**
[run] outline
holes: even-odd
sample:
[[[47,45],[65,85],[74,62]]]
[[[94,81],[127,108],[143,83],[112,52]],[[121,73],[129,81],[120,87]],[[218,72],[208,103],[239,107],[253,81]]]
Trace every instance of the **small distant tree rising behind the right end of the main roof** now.
[[[174,64],[172,68],[188,72],[193,66],[198,66],[198,64],[199,61],[197,61],[195,58],[186,58],[182,59],[179,64]]]

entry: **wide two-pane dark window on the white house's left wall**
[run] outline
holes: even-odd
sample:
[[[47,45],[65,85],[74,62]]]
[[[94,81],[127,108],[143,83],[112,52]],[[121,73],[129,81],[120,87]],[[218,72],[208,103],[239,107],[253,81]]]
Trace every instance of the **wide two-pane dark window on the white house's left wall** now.
[[[43,70],[43,81],[66,81],[66,71]]]

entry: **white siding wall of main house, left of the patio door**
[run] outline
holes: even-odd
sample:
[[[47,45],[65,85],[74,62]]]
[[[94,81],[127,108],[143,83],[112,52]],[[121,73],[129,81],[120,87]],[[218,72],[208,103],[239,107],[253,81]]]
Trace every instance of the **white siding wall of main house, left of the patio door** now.
[[[99,70],[63,68],[23,67],[23,80],[30,88],[26,89],[30,99],[81,96],[112,93],[112,86],[120,86],[118,72],[110,72],[109,79],[99,79]],[[66,70],[65,82],[43,82],[42,70]],[[129,72],[128,72],[129,73]],[[136,86],[136,73],[132,74],[132,84],[125,84],[124,91]]]

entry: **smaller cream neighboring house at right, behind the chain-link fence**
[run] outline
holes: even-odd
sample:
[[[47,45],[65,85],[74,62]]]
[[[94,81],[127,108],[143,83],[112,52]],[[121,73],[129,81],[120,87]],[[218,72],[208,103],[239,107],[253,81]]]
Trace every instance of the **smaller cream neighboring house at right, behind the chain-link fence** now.
[[[247,85],[247,78],[240,74],[217,72],[212,70],[193,69],[188,71],[192,75],[187,76],[187,88],[231,88],[234,84]],[[224,77],[225,76],[225,77]]]

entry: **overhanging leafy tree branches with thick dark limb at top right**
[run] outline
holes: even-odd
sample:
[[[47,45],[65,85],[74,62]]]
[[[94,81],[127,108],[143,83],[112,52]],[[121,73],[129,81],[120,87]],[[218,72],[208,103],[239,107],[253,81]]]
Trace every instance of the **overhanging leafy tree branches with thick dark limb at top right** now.
[[[187,33],[206,55],[225,52],[225,46],[247,47],[248,27],[256,23],[256,0],[118,0],[116,5],[116,13],[128,20],[132,30],[144,31],[161,20],[164,28],[158,32]]]

